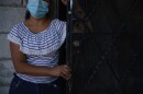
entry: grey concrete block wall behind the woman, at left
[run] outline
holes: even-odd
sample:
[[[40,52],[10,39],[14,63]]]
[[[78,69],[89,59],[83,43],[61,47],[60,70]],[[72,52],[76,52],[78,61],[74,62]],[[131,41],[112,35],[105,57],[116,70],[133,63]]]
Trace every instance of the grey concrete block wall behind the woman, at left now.
[[[0,0],[0,94],[8,94],[14,72],[7,35],[14,24],[24,20],[24,13],[21,0]]]

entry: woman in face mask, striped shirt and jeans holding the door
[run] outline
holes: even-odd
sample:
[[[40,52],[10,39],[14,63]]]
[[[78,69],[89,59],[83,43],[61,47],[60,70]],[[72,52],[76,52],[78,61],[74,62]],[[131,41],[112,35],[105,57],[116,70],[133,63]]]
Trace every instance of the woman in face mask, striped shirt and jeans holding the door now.
[[[58,66],[66,22],[50,17],[52,1],[28,0],[30,19],[14,25],[8,34],[15,69],[9,94],[59,94],[57,79],[70,78],[69,67]]]

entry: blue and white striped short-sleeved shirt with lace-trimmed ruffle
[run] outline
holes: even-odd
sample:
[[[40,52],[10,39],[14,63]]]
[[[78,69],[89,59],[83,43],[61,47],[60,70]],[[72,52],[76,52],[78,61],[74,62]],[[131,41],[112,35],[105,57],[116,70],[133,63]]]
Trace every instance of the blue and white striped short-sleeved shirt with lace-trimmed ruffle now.
[[[40,33],[32,33],[21,22],[12,27],[8,39],[20,46],[20,51],[26,55],[28,63],[34,66],[55,67],[58,64],[58,49],[66,37],[66,22],[55,19],[50,26]],[[18,77],[33,83],[51,83],[57,78],[32,77],[16,73]]]

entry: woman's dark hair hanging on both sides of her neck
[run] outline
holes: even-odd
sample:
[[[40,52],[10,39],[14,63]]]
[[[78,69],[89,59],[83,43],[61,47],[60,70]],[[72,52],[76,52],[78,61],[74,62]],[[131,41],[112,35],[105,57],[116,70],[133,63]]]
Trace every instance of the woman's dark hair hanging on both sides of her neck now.
[[[46,14],[48,17],[53,19],[55,13],[54,13],[54,9],[55,9],[55,5],[54,5],[54,0],[51,0],[51,3],[50,3],[50,12]],[[29,10],[26,10],[25,12],[25,20],[29,20],[31,16],[31,13]]]

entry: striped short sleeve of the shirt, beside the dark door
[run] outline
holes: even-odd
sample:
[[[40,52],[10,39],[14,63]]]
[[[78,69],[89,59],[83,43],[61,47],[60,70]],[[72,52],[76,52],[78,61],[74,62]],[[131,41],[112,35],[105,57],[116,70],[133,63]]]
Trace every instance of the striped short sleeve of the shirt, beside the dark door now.
[[[65,38],[66,38],[66,31],[67,31],[66,27],[67,27],[66,22],[57,20],[56,28],[57,28],[58,36],[61,39],[61,45],[65,42]]]

